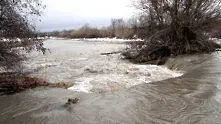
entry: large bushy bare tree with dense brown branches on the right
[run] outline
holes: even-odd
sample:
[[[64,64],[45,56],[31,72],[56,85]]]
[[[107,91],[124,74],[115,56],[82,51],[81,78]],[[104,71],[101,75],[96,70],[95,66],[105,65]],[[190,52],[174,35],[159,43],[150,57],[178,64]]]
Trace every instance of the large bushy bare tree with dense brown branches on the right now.
[[[140,36],[146,39],[140,50],[146,60],[164,56],[216,50],[209,41],[221,19],[220,0],[137,0]]]

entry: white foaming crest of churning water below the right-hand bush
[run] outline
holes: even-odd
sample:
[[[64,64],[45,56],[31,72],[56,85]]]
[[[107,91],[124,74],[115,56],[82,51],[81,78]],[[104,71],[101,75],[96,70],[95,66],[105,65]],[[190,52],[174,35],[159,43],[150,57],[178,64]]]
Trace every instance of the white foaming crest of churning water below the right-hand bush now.
[[[150,83],[183,75],[181,72],[172,71],[166,67],[156,65],[127,64],[127,66],[120,67],[122,67],[120,71],[125,73],[119,72],[118,74],[117,72],[112,72],[109,74],[95,74],[93,76],[81,77],[75,81],[75,85],[69,88],[69,90],[86,93],[110,92],[128,89],[142,83]],[[90,67],[87,66],[85,68],[89,69]],[[96,72],[95,68],[93,70]]]

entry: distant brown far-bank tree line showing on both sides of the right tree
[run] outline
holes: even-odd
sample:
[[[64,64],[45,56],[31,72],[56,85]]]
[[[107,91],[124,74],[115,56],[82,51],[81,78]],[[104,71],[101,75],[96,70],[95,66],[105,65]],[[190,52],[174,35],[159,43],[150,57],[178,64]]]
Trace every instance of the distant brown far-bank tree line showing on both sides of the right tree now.
[[[39,32],[38,36],[52,36],[60,38],[122,38],[133,39],[141,38],[148,39],[148,32],[152,31],[150,27],[146,27],[144,24],[143,16],[132,17],[128,20],[122,18],[113,18],[110,20],[109,26],[103,26],[101,28],[92,27],[90,24],[84,24],[78,29],[51,31],[51,32]],[[221,20],[215,22],[216,26],[210,31],[211,38],[221,39]]]

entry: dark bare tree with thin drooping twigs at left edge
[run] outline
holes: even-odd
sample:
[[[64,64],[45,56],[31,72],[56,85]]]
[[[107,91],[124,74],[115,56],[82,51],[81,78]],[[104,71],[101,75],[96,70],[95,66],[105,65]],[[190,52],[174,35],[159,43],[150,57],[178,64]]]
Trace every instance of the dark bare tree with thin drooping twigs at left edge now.
[[[45,52],[43,42],[37,39],[31,18],[41,15],[44,6],[40,0],[0,1],[0,67],[13,68],[25,59],[24,52]],[[21,52],[23,50],[24,52]]]

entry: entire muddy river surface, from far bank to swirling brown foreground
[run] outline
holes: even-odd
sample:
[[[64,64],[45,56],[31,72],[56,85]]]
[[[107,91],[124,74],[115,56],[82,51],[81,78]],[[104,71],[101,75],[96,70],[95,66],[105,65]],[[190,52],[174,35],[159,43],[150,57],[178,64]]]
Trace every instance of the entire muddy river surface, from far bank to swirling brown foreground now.
[[[47,40],[33,52],[31,76],[73,84],[0,96],[0,124],[220,124],[221,54],[179,56],[164,66],[137,65],[123,43]],[[79,98],[77,104],[65,104]]]

